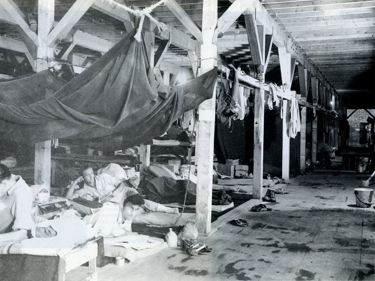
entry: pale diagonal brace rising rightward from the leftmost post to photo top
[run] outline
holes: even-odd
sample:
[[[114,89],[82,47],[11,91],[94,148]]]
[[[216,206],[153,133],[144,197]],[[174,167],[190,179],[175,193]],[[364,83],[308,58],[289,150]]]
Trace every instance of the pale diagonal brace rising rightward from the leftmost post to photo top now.
[[[46,45],[53,47],[57,39],[64,39],[96,0],[76,0],[63,18],[49,32]]]

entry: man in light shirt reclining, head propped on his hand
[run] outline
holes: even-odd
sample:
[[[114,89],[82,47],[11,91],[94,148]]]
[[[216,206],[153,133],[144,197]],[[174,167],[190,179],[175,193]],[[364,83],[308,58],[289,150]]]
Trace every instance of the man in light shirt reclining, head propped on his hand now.
[[[83,188],[74,191],[75,186],[80,182],[84,182]],[[74,180],[68,187],[66,198],[83,198],[94,201],[106,197],[108,201],[120,203],[131,195],[139,195],[139,193],[135,188],[125,186],[123,181],[109,174],[102,173],[96,176],[93,169],[87,167],[82,171],[82,176]],[[142,209],[148,212],[178,213],[178,208],[165,207],[150,200],[144,200]]]

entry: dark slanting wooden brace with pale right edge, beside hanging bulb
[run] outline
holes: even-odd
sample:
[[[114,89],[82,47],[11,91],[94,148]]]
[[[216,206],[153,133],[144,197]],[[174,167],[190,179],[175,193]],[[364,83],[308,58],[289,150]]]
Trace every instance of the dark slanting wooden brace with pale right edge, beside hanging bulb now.
[[[255,65],[263,65],[263,55],[258,36],[257,23],[255,23],[253,15],[244,15],[244,17],[252,61]]]

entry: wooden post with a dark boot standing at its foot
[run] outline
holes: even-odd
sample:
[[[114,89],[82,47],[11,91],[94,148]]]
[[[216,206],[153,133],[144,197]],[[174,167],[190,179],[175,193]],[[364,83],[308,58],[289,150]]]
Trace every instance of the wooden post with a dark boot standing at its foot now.
[[[264,134],[264,90],[263,83],[255,88],[254,95],[254,168],[253,199],[263,196],[263,134]]]

